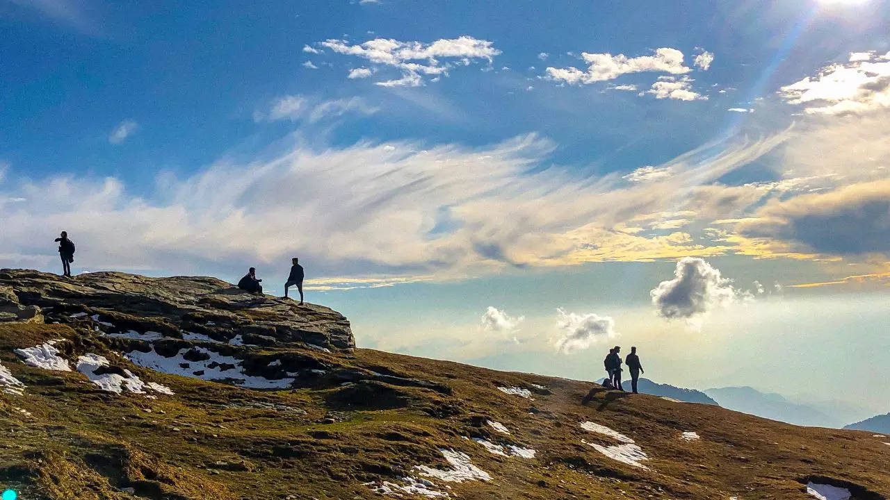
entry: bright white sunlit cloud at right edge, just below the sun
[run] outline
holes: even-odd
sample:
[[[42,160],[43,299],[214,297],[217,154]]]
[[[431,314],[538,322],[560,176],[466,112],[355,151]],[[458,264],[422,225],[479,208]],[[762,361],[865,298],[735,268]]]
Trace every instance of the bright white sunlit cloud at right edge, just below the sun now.
[[[869,59],[863,59],[865,55]],[[855,59],[855,60],[854,60]],[[789,104],[820,115],[853,115],[890,108],[890,60],[857,52],[847,64],[832,64],[814,77],[780,88]]]

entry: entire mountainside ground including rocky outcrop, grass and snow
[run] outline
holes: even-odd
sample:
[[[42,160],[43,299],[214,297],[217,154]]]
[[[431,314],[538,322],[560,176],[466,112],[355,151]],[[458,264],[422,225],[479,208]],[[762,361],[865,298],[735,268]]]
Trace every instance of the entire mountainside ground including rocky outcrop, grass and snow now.
[[[354,349],[214,278],[0,270],[23,499],[883,499],[890,438]],[[817,496],[818,495],[818,496]]]

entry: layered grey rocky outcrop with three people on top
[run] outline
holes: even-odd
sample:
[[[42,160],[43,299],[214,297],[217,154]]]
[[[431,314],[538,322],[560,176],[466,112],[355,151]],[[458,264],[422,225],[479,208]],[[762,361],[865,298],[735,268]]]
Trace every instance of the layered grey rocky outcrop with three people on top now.
[[[329,351],[355,347],[349,321],[336,310],[247,294],[216,278],[149,278],[124,272],[63,278],[36,270],[0,270],[0,321],[72,317],[90,317],[142,336],[198,335],[222,343]]]

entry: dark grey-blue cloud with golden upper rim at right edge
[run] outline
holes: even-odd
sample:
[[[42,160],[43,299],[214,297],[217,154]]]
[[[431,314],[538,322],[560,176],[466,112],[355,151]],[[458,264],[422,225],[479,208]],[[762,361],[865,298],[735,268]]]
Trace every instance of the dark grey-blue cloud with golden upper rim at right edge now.
[[[890,254],[890,180],[773,199],[736,230],[819,254]]]

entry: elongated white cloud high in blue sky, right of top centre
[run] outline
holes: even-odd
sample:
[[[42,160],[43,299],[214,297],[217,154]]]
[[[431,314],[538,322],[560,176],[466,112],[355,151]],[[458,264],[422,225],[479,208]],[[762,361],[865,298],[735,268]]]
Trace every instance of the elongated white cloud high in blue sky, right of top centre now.
[[[613,80],[628,73],[656,72],[683,75],[692,71],[684,66],[683,52],[670,47],[655,50],[654,55],[627,57],[624,54],[581,52],[587,69],[547,68],[546,77],[571,85],[587,85]]]

